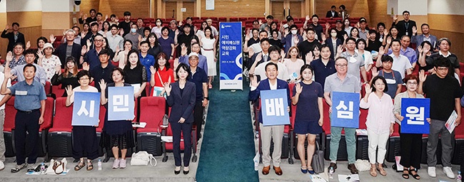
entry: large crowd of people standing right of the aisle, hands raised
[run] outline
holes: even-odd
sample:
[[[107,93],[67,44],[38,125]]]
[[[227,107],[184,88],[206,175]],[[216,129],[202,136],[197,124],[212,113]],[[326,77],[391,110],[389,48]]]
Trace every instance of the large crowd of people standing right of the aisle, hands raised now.
[[[295,85],[293,93],[288,94],[288,100],[291,100],[288,103],[296,105],[296,116],[293,116],[294,131],[298,135],[296,149],[301,156],[301,171],[314,173],[311,159],[315,151],[315,138],[323,132],[321,126],[328,124],[323,122],[323,100],[331,108],[332,92],[359,93],[360,108],[368,109],[365,125],[370,175],[387,175],[383,168],[386,144],[393,132],[399,132],[400,164],[404,166],[402,176],[420,179],[418,168],[422,134],[394,131],[393,126],[401,124],[404,119],[400,108],[401,98],[429,98],[430,118],[424,119],[430,123],[426,147],[428,176],[436,176],[436,151],[440,147],[440,139],[443,173],[448,178],[455,178],[450,164],[455,135],[448,132],[445,122],[455,112],[455,123],[460,124],[463,90],[460,87],[458,58],[449,51],[451,41],[430,35],[430,26],[426,23],[420,26],[422,34],[419,35],[415,21],[409,18],[409,11],[403,11],[401,21],[398,21],[398,16],[393,16],[390,28],[382,22],[377,27],[369,28],[366,18],[360,18],[355,26],[350,26],[352,24],[345,6],[342,5],[340,9],[340,12],[336,12],[336,6],[332,6],[331,11],[327,12],[327,18],[337,19],[336,28],[330,28],[331,24],[326,23],[325,30],[318,23],[317,15],[306,16],[303,27],[296,26],[291,16],[286,17],[287,23],[281,23],[280,28],[273,26],[273,16],[267,16],[267,22],[261,25],[255,26],[253,22],[253,28],[245,35],[243,45],[244,52],[248,53],[245,69],[251,80],[249,100],[256,102],[260,90],[289,90],[288,84]],[[415,43],[415,46],[411,43]],[[420,71],[414,71],[415,67]],[[401,92],[403,87],[405,92]],[[364,95],[361,95],[361,90],[365,90]],[[332,112],[331,109],[328,112]],[[253,118],[263,122],[261,116]],[[281,175],[281,153],[276,151],[281,149],[278,141],[281,140],[283,127],[262,124],[259,127],[263,149],[262,173],[268,174],[272,164],[276,174]],[[358,173],[355,166],[355,129],[330,129],[329,171],[337,168],[338,146],[344,130],[348,169],[351,173]],[[307,162],[304,160],[306,136]],[[274,141],[272,157],[269,152],[271,139]]]

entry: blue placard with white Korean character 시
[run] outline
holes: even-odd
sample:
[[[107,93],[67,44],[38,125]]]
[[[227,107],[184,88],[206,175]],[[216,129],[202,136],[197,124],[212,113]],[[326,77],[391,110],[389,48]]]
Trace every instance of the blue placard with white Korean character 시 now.
[[[99,125],[100,93],[74,92],[73,126]]]

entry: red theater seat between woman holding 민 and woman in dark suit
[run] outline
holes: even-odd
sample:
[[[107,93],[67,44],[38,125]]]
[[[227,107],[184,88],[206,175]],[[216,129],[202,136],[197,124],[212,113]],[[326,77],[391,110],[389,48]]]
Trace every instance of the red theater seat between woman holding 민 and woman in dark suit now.
[[[145,128],[137,129],[137,151],[147,151],[153,156],[163,154],[161,146],[161,129],[166,111],[164,97],[141,97],[140,122],[146,122]]]

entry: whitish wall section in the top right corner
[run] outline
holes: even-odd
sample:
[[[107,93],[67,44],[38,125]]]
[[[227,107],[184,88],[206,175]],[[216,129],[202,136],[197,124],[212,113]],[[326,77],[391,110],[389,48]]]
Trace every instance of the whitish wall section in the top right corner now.
[[[462,0],[428,0],[428,14],[464,15]]]

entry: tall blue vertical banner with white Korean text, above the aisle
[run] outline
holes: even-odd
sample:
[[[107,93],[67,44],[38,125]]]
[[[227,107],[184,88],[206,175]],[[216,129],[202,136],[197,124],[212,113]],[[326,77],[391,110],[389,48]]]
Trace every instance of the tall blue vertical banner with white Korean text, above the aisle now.
[[[219,89],[243,90],[242,23],[219,23]]]

